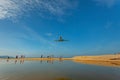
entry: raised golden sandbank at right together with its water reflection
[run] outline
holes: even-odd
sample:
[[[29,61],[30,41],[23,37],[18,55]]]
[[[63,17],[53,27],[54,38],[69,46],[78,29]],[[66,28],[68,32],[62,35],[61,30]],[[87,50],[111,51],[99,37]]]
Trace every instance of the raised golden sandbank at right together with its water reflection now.
[[[73,57],[73,61],[82,64],[120,67],[120,54],[97,55],[97,56],[75,56]]]

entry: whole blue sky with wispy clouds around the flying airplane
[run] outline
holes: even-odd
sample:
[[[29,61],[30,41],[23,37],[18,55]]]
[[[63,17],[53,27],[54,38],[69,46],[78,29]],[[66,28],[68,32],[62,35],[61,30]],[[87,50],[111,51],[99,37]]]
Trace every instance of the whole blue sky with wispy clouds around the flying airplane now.
[[[120,52],[119,0],[0,0],[0,55]],[[54,42],[62,35],[68,42]]]

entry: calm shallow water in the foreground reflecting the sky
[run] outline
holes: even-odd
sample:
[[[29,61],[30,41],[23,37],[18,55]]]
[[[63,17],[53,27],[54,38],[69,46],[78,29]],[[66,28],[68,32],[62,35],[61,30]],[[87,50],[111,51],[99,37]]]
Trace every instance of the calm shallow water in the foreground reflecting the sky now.
[[[0,80],[120,80],[120,68],[72,61],[0,60]]]

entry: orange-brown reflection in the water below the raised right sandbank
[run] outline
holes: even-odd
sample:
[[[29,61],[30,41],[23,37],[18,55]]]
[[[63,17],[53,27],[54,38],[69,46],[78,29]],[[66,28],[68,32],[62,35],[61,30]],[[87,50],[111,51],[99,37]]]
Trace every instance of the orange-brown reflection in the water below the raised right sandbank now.
[[[111,66],[111,67],[120,67],[120,61],[95,61],[95,60],[73,60],[77,63],[82,64],[92,64],[98,66]]]

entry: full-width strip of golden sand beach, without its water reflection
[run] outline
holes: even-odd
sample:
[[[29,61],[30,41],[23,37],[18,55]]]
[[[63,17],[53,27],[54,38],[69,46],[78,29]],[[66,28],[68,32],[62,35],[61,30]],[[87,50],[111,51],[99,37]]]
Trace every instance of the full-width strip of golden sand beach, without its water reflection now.
[[[7,60],[8,58],[0,58]],[[95,55],[95,56],[74,56],[72,58],[40,58],[40,57],[26,57],[26,58],[9,58],[9,60],[76,60],[76,61],[120,61],[120,54],[117,55]]]

